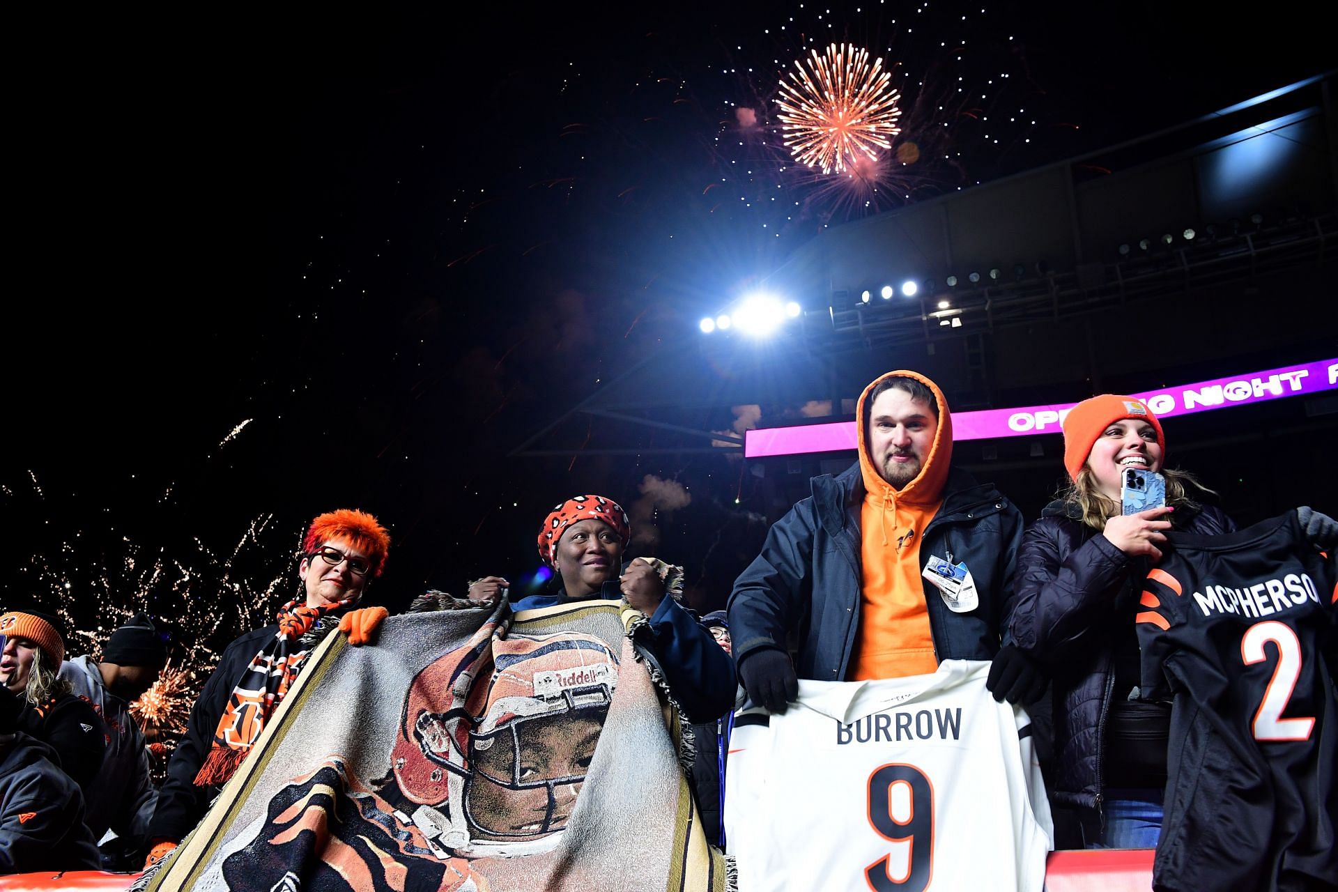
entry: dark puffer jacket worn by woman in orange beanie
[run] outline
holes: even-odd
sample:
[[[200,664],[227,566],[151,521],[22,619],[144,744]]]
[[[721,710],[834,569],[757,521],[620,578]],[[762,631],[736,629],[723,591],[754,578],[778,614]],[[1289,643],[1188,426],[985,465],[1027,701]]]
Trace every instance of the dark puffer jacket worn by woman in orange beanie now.
[[[1028,527],[1006,627],[1020,647],[1049,667],[1053,679],[1054,802],[1100,809],[1117,618],[1128,615],[1132,623],[1149,566],[1080,518],[1076,507],[1052,501]],[[1176,508],[1172,523],[1200,535],[1235,530],[1214,507]],[[1132,626],[1125,631],[1133,634]]]

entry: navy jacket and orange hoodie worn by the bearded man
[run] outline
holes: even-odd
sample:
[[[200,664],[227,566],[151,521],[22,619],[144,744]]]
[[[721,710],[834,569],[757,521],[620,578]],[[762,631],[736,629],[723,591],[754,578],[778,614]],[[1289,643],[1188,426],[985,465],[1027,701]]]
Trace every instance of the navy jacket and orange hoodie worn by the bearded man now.
[[[1013,560],[1022,540],[1022,515],[994,484],[977,483],[966,471],[951,467],[951,419],[938,386],[914,372],[891,374],[925,382],[939,401],[938,433],[925,468],[902,488],[900,497],[890,487],[887,493],[866,485],[868,460],[862,399],[856,416],[860,460],[836,477],[814,477],[809,481],[812,495],[772,526],[761,552],[735,582],[729,596],[729,629],[737,662],[761,649],[791,650],[793,639],[800,678],[844,681],[855,671],[862,626],[867,630],[860,643],[867,646],[872,641],[898,641],[895,635],[904,630],[894,630],[891,638],[879,638],[890,622],[923,622],[914,610],[917,595],[923,604],[935,662],[991,659],[998,651],[1004,611],[1012,596]],[[937,499],[935,488],[939,489]],[[871,491],[872,507],[867,499]],[[866,528],[864,519],[875,508],[876,528]],[[884,520],[887,550],[882,547]],[[903,554],[888,551],[911,528],[915,530],[911,540],[918,548],[915,558],[907,556],[904,540]],[[884,559],[880,578],[899,584],[900,591],[910,595],[902,602],[910,618],[888,619],[882,612],[880,603],[886,602],[879,602],[874,586],[868,584],[874,574],[864,572],[866,547],[872,548],[872,543]],[[938,588],[921,576],[930,555],[966,564],[979,596],[975,608],[953,612]],[[896,649],[894,643],[890,650]]]

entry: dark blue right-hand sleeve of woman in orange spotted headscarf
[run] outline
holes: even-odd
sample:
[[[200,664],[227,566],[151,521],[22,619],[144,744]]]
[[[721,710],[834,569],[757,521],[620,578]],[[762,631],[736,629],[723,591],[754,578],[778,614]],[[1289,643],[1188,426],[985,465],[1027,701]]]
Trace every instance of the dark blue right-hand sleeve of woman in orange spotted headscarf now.
[[[688,723],[713,722],[735,707],[739,679],[729,654],[677,600],[665,595],[650,617],[648,646]]]

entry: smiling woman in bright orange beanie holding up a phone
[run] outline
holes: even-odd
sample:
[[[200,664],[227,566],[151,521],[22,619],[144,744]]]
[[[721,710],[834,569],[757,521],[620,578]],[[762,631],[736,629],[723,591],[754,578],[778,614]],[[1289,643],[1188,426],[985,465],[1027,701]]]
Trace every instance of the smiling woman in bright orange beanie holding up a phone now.
[[[1171,703],[1139,699],[1139,592],[1168,530],[1218,535],[1236,526],[1195,500],[1204,491],[1192,476],[1165,468],[1161,423],[1133,397],[1108,393],[1073,407],[1064,467],[1072,484],[1022,539],[1008,627],[1053,675],[1060,841],[1151,848],[1161,829]],[[1125,468],[1160,472],[1165,507],[1123,515]],[[1078,839],[1064,840],[1076,829]]]

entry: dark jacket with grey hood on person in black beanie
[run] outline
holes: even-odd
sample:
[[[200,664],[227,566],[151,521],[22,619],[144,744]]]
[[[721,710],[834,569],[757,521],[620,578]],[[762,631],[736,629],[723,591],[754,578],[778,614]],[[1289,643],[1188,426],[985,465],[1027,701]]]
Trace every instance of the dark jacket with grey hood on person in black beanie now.
[[[108,829],[120,837],[146,834],[158,802],[158,790],[149,776],[145,736],[130,715],[130,707],[107,690],[98,663],[88,657],[75,657],[60,663],[60,677],[102,718],[103,738],[107,742],[102,770],[84,788],[84,824],[99,840]]]

